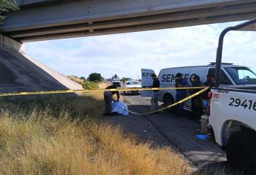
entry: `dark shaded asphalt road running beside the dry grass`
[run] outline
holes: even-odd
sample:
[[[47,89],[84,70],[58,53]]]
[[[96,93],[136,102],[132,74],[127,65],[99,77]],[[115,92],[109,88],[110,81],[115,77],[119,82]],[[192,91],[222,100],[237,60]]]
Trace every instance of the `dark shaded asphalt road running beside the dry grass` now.
[[[143,113],[150,108],[150,99],[140,96],[124,96],[129,110]],[[125,132],[134,133],[142,141],[153,146],[169,146],[177,149],[196,167],[225,164],[226,153],[213,140],[198,139],[200,124],[186,116],[175,116],[161,112],[151,115],[109,116],[115,125],[121,125]]]

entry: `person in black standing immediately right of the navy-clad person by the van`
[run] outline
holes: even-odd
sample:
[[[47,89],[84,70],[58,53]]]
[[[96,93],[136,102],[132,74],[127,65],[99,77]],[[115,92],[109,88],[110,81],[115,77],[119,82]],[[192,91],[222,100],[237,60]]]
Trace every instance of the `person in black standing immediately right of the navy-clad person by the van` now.
[[[202,87],[203,82],[200,81],[200,76],[195,75],[191,83],[192,87]],[[197,93],[200,89],[191,89],[191,95]],[[203,101],[200,95],[194,96],[191,99],[192,116],[191,119],[200,119],[203,115]]]

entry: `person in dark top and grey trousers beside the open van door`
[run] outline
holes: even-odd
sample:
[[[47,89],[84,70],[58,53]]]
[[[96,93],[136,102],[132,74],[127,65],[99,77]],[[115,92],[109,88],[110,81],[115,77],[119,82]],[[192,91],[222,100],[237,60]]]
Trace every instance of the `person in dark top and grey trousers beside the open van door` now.
[[[153,73],[151,78],[153,79],[152,87],[160,87],[160,82],[159,79],[157,79],[157,75]],[[151,94],[151,112],[158,109],[158,95],[159,90],[153,90]]]

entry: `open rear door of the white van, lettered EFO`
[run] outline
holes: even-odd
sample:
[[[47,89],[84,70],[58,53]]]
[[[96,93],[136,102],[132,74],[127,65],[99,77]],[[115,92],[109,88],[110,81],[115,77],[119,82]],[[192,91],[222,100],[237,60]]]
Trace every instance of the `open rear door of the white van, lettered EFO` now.
[[[141,69],[141,77],[142,77],[142,87],[151,87],[153,83],[153,79],[151,78],[152,73],[154,70],[151,69]],[[141,96],[142,97],[151,97],[152,90],[142,90]]]

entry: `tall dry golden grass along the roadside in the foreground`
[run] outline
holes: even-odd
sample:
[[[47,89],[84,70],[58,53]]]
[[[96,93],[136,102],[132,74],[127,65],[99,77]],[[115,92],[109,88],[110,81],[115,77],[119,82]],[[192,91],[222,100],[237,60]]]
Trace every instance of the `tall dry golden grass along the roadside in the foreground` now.
[[[1,174],[190,174],[169,148],[152,148],[102,122],[102,94],[5,100]]]

